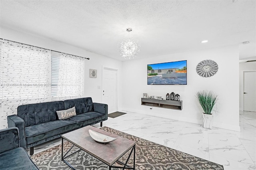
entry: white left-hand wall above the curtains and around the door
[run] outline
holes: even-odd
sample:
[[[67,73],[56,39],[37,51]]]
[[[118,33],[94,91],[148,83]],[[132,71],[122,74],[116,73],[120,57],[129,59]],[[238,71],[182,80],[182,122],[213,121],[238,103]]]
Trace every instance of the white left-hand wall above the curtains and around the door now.
[[[65,35],[64,35],[65,36]],[[50,39],[26,34],[24,32],[18,32],[8,28],[0,28],[0,38],[6,40],[12,40],[20,43],[26,43],[42,48],[52,49],[72,55],[78,55],[81,57],[89,57],[90,60],[85,61],[85,84],[84,84],[84,97],[92,97],[92,101],[101,103],[102,101],[102,67],[109,67],[118,70],[118,89],[121,91],[122,81],[122,61],[112,59],[110,57],[102,56],[96,53],[86,51],[84,49],[68,45],[66,43],[56,42]],[[89,41],[89,40],[88,40]],[[89,77],[89,69],[97,69],[97,78]],[[100,86],[100,89],[98,89]],[[120,93],[117,94],[120,99]],[[118,103],[118,110],[121,110],[121,102]]]

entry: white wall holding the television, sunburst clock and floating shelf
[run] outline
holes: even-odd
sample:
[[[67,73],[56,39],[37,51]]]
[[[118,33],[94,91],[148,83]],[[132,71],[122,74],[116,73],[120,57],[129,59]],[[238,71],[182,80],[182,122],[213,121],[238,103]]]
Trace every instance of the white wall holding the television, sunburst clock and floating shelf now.
[[[211,59],[218,64],[218,72],[212,77],[201,77],[196,65]],[[147,64],[187,60],[188,85],[147,85]],[[189,51],[136,59],[123,62],[122,107],[170,119],[202,124],[202,108],[196,101],[199,90],[212,90],[219,95],[218,115],[214,115],[214,127],[239,131],[239,52],[238,46]],[[178,93],[183,101],[182,111],[142,106],[143,93],[165,97],[166,93]]]

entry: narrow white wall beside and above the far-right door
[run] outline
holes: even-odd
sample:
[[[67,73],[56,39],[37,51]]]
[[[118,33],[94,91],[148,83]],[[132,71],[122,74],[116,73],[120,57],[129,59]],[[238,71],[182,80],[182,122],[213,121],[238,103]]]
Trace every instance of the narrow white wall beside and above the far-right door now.
[[[239,110],[244,110],[244,71],[256,71],[256,62],[239,64]]]

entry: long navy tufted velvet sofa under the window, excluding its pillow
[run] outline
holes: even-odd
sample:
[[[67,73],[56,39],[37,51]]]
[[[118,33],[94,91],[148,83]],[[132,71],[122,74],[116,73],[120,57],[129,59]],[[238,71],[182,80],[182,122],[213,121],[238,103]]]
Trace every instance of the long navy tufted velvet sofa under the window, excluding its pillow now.
[[[75,107],[76,116],[59,120],[56,111]],[[8,127],[18,127],[20,146],[30,148],[34,154],[34,146],[53,140],[61,134],[72,130],[94,125],[108,119],[108,105],[93,103],[91,97],[20,105],[17,115],[7,117]]]

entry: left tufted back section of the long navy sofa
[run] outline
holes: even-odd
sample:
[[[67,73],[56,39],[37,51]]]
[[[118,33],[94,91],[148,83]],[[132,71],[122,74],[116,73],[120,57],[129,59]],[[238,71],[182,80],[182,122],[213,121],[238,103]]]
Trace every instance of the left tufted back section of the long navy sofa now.
[[[18,117],[24,120],[25,127],[55,121],[58,119],[56,111],[61,110],[64,110],[63,101],[20,105],[17,108]]]

